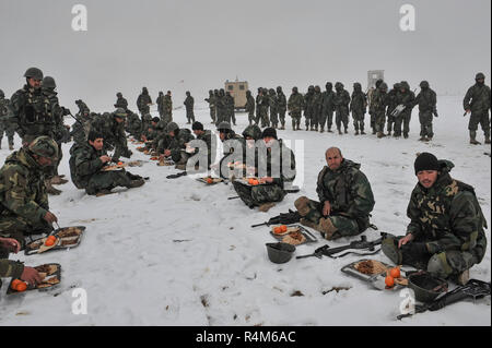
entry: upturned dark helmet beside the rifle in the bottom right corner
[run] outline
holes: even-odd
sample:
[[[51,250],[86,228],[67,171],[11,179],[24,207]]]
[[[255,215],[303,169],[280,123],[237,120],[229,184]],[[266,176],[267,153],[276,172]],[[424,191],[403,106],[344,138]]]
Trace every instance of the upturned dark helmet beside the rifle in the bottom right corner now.
[[[447,292],[447,281],[420,271],[408,276],[408,287],[415,292],[415,300],[432,302],[437,296]]]

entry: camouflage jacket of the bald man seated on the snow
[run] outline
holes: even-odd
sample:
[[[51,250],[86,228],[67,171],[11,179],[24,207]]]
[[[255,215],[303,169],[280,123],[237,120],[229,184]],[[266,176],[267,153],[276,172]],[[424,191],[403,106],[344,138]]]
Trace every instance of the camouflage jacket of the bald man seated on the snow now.
[[[360,164],[349,159],[343,159],[336,171],[325,166],[318,175],[316,192],[321,205],[330,202],[331,215],[355,219],[363,231],[370,225],[375,202],[371,184],[360,168]]]

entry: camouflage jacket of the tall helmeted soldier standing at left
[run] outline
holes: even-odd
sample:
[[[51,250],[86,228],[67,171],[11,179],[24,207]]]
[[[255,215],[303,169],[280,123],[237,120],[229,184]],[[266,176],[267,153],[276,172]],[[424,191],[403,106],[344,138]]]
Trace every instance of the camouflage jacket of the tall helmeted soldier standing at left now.
[[[54,137],[56,120],[52,105],[42,88],[35,89],[25,85],[15,92],[10,100],[21,137],[25,135]]]

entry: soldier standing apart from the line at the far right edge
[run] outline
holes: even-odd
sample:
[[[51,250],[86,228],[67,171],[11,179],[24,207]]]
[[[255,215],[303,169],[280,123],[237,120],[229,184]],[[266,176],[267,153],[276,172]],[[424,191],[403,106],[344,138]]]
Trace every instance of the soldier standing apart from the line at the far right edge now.
[[[462,106],[466,113],[470,113],[468,130],[470,131],[470,144],[480,144],[477,141],[477,130],[480,123],[483,134],[485,135],[485,144],[490,144],[490,120],[489,111],[491,108],[490,87],[485,85],[485,75],[479,72],[476,75],[476,84],[468,88]]]

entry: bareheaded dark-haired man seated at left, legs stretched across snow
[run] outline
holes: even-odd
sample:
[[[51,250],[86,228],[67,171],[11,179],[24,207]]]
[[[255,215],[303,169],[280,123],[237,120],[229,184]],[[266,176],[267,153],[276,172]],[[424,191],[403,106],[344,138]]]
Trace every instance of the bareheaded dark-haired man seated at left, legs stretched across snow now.
[[[70,148],[70,175],[78,189],[85,189],[90,195],[110,193],[116,187],[138,188],[145,183],[140,176],[133,176],[125,169],[108,170],[112,158],[104,148],[104,135],[91,131],[87,142],[75,143]]]

